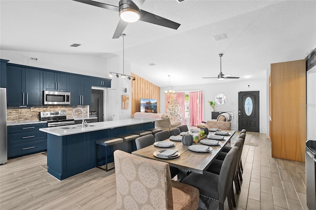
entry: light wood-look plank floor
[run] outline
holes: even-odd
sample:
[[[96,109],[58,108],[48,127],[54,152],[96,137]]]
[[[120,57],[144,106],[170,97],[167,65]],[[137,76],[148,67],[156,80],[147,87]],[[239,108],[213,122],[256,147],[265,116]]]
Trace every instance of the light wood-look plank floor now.
[[[94,168],[59,181],[44,169],[45,155],[28,155],[0,166],[1,210],[116,209],[114,170]],[[272,158],[271,141],[265,135],[247,132],[242,164],[243,182],[241,193],[235,196],[236,209],[308,210],[305,164]]]

